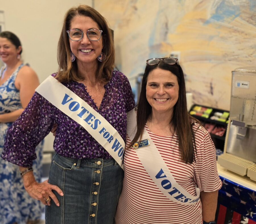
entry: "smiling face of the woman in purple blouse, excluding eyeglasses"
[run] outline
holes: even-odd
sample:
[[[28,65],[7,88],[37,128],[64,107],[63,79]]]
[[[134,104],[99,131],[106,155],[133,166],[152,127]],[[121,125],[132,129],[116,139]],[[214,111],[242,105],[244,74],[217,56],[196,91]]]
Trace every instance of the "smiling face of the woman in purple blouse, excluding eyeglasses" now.
[[[84,32],[82,40],[74,41],[69,39],[71,51],[76,56],[77,65],[87,63],[95,63],[97,65],[97,57],[101,54],[103,44],[102,38],[97,41],[90,41],[86,31],[96,28],[100,30],[98,24],[88,16],[76,16],[71,20],[69,29],[80,29]]]

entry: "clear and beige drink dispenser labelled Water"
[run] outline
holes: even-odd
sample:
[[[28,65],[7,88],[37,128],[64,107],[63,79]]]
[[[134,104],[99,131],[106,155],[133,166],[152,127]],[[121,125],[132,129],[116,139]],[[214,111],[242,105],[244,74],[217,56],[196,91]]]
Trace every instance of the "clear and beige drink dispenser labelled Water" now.
[[[218,163],[256,181],[256,67],[232,71],[230,121]]]

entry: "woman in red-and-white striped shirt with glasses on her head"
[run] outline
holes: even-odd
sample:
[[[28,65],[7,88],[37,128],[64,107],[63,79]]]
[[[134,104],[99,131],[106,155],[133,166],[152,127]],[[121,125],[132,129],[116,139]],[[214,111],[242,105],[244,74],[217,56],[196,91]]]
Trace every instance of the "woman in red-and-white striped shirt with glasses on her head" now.
[[[116,224],[215,223],[216,151],[187,112],[175,58],[147,60],[139,103],[127,114],[124,166]]]

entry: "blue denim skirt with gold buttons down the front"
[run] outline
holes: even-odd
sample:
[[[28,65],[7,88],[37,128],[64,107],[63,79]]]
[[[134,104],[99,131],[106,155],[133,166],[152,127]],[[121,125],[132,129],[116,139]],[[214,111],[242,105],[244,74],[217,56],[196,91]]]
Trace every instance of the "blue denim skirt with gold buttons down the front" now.
[[[123,170],[114,159],[53,156],[49,183],[64,193],[46,206],[46,224],[113,224],[123,187]]]

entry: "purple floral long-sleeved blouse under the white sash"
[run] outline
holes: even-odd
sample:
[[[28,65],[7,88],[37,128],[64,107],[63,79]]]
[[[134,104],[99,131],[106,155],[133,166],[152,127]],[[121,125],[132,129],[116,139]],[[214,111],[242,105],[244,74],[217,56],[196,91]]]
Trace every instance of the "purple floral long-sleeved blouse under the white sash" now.
[[[53,74],[55,76],[55,74]],[[113,71],[98,109],[84,84],[71,81],[64,84],[101,114],[121,135],[126,136],[126,113],[134,108],[134,98],[127,77]],[[111,158],[111,155],[78,123],[69,118],[44,97],[34,93],[30,103],[7,131],[1,157],[22,167],[31,167],[36,159],[35,148],[57,123],[54,150],[75,159]]]

